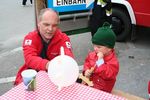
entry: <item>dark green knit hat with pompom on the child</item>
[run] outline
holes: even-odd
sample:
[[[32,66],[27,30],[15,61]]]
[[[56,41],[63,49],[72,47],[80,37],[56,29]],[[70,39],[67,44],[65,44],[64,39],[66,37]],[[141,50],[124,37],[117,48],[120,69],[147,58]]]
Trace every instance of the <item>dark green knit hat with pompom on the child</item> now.
[[[115,42],[116,35],[107,22],[105,22],[92,37],[93,44],[107,46],[109,48],[114,48]]]

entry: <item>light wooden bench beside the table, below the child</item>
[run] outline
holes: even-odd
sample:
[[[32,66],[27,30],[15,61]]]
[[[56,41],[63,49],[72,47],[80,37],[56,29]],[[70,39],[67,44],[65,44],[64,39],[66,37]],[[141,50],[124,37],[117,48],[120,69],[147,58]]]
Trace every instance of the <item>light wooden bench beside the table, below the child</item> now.
[[[127,100],[146,100],[144,98],[120,91],[120,90],[112,90],[112,94],[125,97]]]

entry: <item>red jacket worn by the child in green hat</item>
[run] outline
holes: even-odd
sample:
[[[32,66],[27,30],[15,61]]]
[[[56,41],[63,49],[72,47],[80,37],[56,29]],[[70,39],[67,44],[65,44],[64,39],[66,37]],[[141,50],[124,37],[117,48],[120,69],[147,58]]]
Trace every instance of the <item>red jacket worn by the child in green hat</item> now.
[[[105,56],[103,59],[104,64],[95,67],[94,72],[90,76],[90,80],[93,81],[94,88],[106,92],[111,92],[119,71],[119,62],[114,53],[114,50],[112,50],[111,54]],[[85,70],[94,67],[97,60],[98,57],[96,53],[90,52],[85,59],[83,73]]]

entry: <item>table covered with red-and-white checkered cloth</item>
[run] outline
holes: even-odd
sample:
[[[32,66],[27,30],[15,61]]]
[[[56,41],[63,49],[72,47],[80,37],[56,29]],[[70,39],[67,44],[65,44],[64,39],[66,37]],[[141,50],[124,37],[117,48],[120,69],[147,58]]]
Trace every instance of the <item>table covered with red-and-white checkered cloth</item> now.
[[[63,87],[58,91],[48,74],[40,71],[36,77],[35,91],[26,91],[23,83],[12,88],[0,97],[0,100],[125,100],[123,97],[112,95],[79,83]]]

